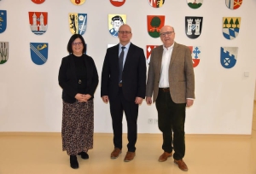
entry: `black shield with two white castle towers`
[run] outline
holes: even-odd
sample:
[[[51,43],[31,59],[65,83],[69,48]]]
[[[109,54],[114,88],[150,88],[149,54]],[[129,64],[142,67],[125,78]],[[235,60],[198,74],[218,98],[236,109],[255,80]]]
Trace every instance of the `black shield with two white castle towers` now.
[[[203,17],[186,16],[185,32],[189,38],[198,38],[201,35]]]

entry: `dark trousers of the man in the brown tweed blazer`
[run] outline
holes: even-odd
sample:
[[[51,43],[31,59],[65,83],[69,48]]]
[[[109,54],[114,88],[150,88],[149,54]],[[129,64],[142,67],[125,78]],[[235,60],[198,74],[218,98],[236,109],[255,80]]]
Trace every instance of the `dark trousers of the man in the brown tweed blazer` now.
[[[158,126],[163,132],[163,150],[171,153],[174,148],[173,158],[183,159],[185,155],[186,103],[173,102],[170,92],[164,92],[160,89],[155,106],[158,111]]]

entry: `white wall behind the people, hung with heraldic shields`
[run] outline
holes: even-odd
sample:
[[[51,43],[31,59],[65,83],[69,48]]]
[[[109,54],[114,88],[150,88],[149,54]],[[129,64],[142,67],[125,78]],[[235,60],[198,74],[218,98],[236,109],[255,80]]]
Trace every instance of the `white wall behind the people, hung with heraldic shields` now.
[[[46,0],[40,5],[27,0],[2,0],[0,9],[8,13],[7,30],[0,34],[0,41],[9,42],[9,61],[0,65],[0,131],[61,131],[61,88],[57,76],[71,36],[67,16],[78,12],[88,14],[84,39],[88,44],[87,54],[96,61],[99,74],[107,44],[119,42],[108,32],[108,14],[127,14],[133,32],[131,41],[143,49],[147,44],[161,44],[160,38],[148,35],[147,15],[166,15],[166,24],[175,27],[177,43],[202,47],[201,63],[195,67],[195,105],[187,109],[186,133],[251,134],[256,65],[255,0],[244,1],[236,10],[227,9],[224,0],[206,0],[200,9],[190,9],[185,0],[166,1],[160,9],[149,6],[148,0],[127,0],[120,8],[107,0],[86,0],[81,6],[68,0]],[[44,35],[36,36],[30,31],[29,11],[48,12],[49,27]],[[204,17],[199,38],[185,35],[185,16]],[[241,32],[234,40],[227,40],[222,34],[222,19],[230,16],[241,17]],[[43,66],[31,61],[30,42],[49,43],[49,58]],[[225,69],[220,65],[221,46],[239,47],[235,67]],[[244,77],[245,71],[250,73],[249,77]],[[95,131],[112,132],[109,106],[100,98],[100,86],[95,95]],[[160,132],[157,125],[148,125],[149,118],[157,118],[155,106],[143,102],[138,117],[139,133]]]

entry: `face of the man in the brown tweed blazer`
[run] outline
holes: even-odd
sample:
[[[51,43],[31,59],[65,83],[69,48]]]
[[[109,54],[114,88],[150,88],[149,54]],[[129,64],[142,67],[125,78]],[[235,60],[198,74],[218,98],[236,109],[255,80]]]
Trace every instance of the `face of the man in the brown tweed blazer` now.
[[[175,38],[172,26],[163,26],[160,29],[160,38],[166,48],[172,46]]]

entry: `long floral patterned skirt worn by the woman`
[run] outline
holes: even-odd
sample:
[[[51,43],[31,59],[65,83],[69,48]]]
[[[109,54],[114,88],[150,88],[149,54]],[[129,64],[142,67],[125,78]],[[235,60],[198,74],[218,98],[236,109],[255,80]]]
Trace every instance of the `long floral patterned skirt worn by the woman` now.
[[[93,101],[63,102],[62,150],[68,155],[93,148],[94,110]]]

